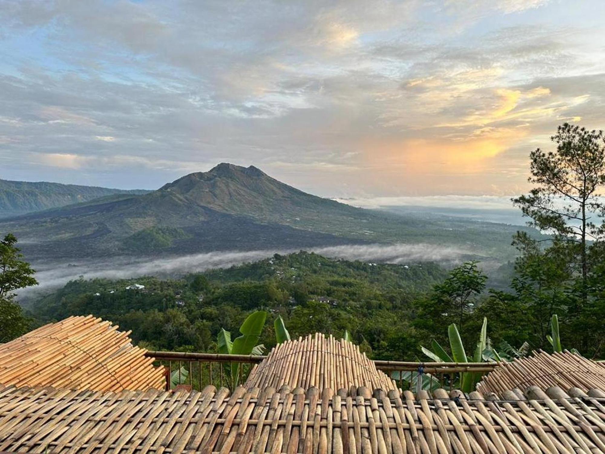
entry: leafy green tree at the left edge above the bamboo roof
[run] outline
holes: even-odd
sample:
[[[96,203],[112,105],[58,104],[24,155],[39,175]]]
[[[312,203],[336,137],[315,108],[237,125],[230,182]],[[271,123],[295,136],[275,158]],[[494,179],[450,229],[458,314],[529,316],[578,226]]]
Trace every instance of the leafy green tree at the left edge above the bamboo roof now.
[[[33,278],[30,264],[21,260],[17,238],[8,234],[0,240],[0,343],[7,342],[27,332],[29,321],[21,307],[13,303],[17,289],[38,284]]]

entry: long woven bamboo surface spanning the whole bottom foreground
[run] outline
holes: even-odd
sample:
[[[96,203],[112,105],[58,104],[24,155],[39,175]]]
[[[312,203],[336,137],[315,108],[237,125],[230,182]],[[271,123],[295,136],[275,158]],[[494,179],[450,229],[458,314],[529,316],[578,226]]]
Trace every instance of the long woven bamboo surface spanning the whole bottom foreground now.
[[[93,392],[0,386],[0,452],[601,453],[605,393],[506,400],[301,388]]]

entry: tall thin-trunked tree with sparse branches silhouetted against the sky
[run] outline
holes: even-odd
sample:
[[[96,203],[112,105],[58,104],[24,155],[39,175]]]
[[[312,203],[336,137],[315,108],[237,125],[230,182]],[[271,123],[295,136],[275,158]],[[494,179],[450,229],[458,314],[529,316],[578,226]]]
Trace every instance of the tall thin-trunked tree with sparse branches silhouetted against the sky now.
[[[512,199],[523,215],[531,217],[529,225],[554,237],[578,257],[581,297],[587,299],[590,271],[587,242],[600,240],[605,233],[603,222],[592,219],[605,214],[605,205],[598,199],[598,190],[605,185],[605,141],[603,131],[564,123],[551,137],[556,151],[538,148],[530,154],[531,176],[537,185],[529,194]]]

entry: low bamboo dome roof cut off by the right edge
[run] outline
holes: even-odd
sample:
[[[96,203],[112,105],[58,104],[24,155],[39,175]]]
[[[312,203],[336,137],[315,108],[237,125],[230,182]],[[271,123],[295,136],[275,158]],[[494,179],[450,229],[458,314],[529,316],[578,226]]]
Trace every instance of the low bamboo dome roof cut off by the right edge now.
[[[501,393],[508,389],[526,389],[537,385],[542,389],[559,386],[578,387],[584,391],[605,390],[605,364],[587,360],[571,352],[548,354],[532,352],[531,357],[501,363],[477,384],[482,393]]]

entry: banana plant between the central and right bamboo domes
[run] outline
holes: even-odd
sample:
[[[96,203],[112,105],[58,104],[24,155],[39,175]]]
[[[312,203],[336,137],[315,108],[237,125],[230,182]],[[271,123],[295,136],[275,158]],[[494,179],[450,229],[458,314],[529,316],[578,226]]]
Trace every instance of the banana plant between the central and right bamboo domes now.
[[[488,319],[483,317],[483,325],[479,334],[479,341],[477,341],[477,346],[472,357],[474,363],[482,363],[489,358],[489,355],[486,355],[486,352],[488,351],[487,329]],[[469,361],[468,357],[466,356],[466,350],[464,349],[462,340],[460,339],[458,327],[455,323],[452,323],[450,326],[448,326],[448,338],[450,338],[450,349],[452,352],[451,357],[434,339],[431,340],[431,347],[433,350],[429,350],[422,346],[420,346],[420,350],[422,350],[427,357],[431,358],[431,360],[436,361],[437,363],[468,363]],[[490,349],[489,351],[495,352],[493,349]],[[497,355],[497,352],[495,352],[495,355]],[[463,392],[471,392],[475,389],[476,384],[479,382],[479,380],[481,380],[482,377],[482,372],[460,372],[458,386]]]

